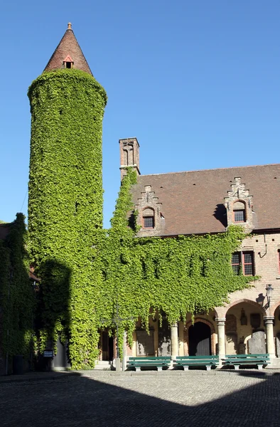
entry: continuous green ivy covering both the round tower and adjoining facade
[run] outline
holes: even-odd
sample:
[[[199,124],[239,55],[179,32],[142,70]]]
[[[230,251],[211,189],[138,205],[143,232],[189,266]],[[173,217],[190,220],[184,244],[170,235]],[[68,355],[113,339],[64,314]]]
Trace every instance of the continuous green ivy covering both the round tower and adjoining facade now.
[[[112,227],[102,229],[102,117],[107,97],[91,75],[43,73],[28,92],[31,164],[28,231],[31,263],[41,279],[41,351],[58,337],[69,343],[72,368],[93,367],[99,330],[124,319],[131,343],[135,322],[165,312],[172,324],[186,312],[222,305],[254,280],[234,275],[233,251],[244,233],[136,238],[128,169]],[[130,226],[129,226],[130,224]],[[131,226],[132,225],[132,226]],[[119,343],[121,344],[121,343]],[[120,345],[121,347],[121,345]]]

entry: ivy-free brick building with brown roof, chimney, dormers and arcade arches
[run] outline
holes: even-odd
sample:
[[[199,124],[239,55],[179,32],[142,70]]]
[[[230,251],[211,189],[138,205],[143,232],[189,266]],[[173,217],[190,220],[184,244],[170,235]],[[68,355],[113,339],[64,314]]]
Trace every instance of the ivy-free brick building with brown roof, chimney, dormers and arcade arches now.
[[[137,139],[121,139],[119,147],[121,176],[126,167],[138,174],[132,192],[139,236],[223,233],[239,224],[252,237],[232,255],[232,268],[260,276],[252,288],[230,294],[224,307],[195,316],[194,325],[187,313],[186,323],[171,328],[151,322],[150,337],[136,330],[126,354],[280,357],[280,164],[141,175]]]

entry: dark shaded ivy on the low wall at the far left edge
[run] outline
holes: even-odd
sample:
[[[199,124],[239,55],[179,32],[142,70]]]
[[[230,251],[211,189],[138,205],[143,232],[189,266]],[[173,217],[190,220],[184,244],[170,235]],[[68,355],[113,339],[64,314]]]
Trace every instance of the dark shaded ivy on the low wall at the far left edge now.
[[[6,224],[9,234],[0,241],[0,301],[2,356],[22,354],[30,360],[33,349],[34,295],[28,277],[26,226],[23,214]]]

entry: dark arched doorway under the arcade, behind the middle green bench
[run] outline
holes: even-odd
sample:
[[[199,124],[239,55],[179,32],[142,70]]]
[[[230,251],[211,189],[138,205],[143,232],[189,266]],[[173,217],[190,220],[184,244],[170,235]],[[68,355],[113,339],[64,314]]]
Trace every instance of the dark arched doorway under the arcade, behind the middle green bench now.
[[[211,354],[211,330],[203,322],[195,322],[188,328],[188,354],[207,356]]]

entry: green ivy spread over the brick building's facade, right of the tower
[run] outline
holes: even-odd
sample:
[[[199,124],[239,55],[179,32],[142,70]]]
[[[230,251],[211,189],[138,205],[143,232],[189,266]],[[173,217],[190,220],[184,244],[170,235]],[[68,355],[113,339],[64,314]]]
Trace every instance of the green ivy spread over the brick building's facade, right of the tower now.
[[[130,188],[135,181],[136,173],[129,170],[102,251],[104,288],[99,316],[112,319],[118,303],[122,319],[134,318],[122,322],[121,344],[124,330],[129,332],[131,344],[139,317],[148,329],[149,317],[165,312],[172,325],[184,320],[187,312],[194,315],[223,305],[230,292],[247,288],[258,279],[232,271],[232,253],[245,237],[240,226],[215,235],[136,238],[136,230],[129,228],[127,220],[133,206]],[[113,322],[106,326],[114,329]]]

